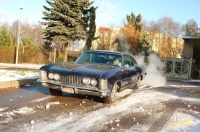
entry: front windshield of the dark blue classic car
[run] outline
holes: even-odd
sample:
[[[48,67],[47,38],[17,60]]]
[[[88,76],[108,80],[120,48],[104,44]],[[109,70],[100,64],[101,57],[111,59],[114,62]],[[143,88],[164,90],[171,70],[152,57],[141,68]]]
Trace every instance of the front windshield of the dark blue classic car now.
[[[77,59],[76,63],[98,63],[121,67],[122,56],[111,53],[85,52]]]

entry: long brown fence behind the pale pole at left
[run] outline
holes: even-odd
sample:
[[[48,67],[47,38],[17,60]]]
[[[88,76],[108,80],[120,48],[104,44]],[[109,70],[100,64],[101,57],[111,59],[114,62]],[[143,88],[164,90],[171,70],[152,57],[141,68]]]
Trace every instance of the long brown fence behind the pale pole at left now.
[[[54,56],[55,55],[55,56]],[[79,52],[68,51],[68,59],[72,61],[80,55]],[[48,51],[39,47],[20,47],[18,63],[48,64],[54,61],[63,61],[64,53]],[[0,63],[15,62],[15,47],[0,46]]]

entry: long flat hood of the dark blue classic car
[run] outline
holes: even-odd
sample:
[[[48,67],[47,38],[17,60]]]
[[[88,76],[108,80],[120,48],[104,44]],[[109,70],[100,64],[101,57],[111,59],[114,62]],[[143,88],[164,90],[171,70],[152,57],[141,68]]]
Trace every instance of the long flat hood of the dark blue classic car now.
[[[48,72],[69,74],[69,75],[79,75],[99,78],[105,73],[111,72],[117,67],[105,64],[89,64],[89,63],[59,63],[52,64],[41,68]]]

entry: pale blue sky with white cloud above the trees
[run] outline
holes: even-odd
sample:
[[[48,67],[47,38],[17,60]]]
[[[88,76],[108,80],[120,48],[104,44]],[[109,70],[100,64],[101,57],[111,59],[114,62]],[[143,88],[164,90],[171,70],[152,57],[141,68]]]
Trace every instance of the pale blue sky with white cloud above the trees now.
[[[0,23],[12,23],[19,18],[19,7],[24,7],[23,21],[41,21],[45,0],[0,0]],[[127,14],[141,13],[144,20],[156,21],[162,16],[172,17],[184,24],[194,19],[200,25],[200,0],[95,0],[97,25],[118,27]]]

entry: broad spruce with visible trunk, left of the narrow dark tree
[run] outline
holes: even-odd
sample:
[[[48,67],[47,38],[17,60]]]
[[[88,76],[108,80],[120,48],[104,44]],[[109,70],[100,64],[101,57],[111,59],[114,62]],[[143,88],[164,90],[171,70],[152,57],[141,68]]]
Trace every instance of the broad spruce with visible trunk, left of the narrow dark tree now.
[[[47,0],[47,3],[50,7],[44,6],[43,12],[45,47],[50,48],[54,43],[66,49],[73,41],[87,38],[88,24],[84,18],[91,5],[89,0]],[[65,57],[66,54],[67,50]]]

